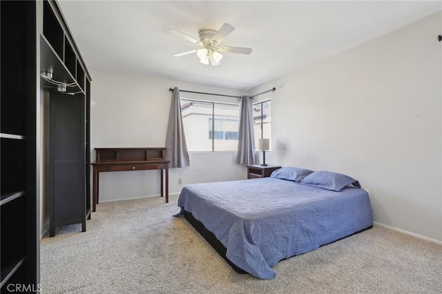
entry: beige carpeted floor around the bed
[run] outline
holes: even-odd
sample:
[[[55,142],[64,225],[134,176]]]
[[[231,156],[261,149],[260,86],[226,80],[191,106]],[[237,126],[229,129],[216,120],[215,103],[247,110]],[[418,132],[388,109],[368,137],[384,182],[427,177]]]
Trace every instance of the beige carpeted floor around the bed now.
[[[374,227],[239,275],[182,217],[177,196],[99,204],[41,240],[43,293],[442,293],[442,246]]]

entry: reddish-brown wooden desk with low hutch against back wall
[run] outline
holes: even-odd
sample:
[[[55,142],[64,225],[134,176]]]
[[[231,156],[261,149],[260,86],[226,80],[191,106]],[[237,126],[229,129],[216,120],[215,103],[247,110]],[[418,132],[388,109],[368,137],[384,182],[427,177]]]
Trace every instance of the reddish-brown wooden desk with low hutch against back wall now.
[[[164,195],[163,170],[166,178],[166,203],[169,203],[169,160],[166,148],[95,148],[93,166],[93,206],[99,201],[99,173],[126,170],[160,170],[161,197]]]

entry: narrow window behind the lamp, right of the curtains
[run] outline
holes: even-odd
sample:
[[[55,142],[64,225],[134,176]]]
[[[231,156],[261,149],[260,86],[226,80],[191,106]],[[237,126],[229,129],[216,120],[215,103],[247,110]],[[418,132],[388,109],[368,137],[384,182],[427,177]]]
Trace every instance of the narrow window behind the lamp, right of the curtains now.
[[[271,146],[271,103],[270,100],[253,104],[253,121],[255,128],[255,147],[258,148],[258,139],[270,139]]]

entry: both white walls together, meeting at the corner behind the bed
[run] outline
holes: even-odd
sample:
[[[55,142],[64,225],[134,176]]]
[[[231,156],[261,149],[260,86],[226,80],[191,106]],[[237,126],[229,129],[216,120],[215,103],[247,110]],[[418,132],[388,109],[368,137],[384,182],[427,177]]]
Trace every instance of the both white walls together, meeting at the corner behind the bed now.
[[[267,163],[356,177],[370,190],[376,222],[442,240],[441,25],[434,14],[252,89],[277,88],[256,99],[272,99]],[[244,94],[126,72],[93,69],[92,77],[92,148],[164,146],[171,87]],[[190,167],[171,170],[171,193],[182,188],[177,179],[184,185],[246,177],[234,152],[190,157]],[[158,171],[100,178],[101,201],[160,193]]]

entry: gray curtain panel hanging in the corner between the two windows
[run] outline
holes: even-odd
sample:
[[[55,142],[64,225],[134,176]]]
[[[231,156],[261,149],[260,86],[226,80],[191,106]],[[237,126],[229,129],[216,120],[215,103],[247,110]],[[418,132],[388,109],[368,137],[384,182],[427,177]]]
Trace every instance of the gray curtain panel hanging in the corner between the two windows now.
[[[255,133],[253,131],[253,106],[249,96],[240,101],[240,129],[238,132],[238,164],[255,164]]]

